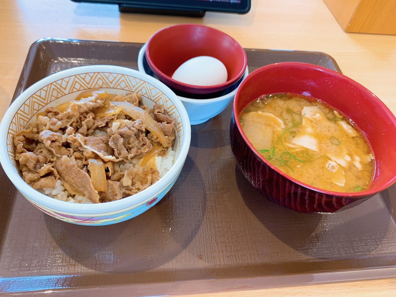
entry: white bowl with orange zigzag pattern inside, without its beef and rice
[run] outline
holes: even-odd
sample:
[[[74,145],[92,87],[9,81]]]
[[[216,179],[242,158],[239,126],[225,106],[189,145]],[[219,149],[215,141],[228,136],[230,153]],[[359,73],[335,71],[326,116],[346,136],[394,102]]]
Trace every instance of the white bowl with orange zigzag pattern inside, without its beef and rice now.
[[[173,166],[156,183],[120,200],[99,204],[77,204],[50,198],[23,181],[15,161],[13,135],[24,129],[46,107],[70,101],[81,91],[101,88],[109,93],[139,93],[143,103],[162,105],[176,128]],[[0,161],[15,187],[38,209],[49,215],[80,225],[109,225],[131,219],[154,206],[179,176],[190,146],[191,127],[183,104],[162,82],[137,70],[92,65],[63,70],[33,84],[7,110],[0,124]]]

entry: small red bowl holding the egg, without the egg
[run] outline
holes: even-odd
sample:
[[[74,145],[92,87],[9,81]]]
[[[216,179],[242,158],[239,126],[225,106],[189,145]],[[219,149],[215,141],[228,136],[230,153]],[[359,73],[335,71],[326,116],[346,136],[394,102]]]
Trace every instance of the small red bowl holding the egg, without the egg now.
[[[213,86],[195,86],[172,79],[173,72],[185,61],[197,56],[219,59],[227,68],[227,82]],[[247,65],[245,50],[231,36],[217,29],[196,24],[166,27],[154,33],[147,42],[147,63],[167,86],[193,94],[221,91],[244,74]]]

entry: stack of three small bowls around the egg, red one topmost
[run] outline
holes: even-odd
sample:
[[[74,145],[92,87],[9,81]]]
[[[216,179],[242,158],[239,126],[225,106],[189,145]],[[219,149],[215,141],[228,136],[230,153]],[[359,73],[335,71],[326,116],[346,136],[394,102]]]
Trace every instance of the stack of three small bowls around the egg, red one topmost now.
[[[172,78],[181,64],[199,56],[221,61],[227,69],[227,82],[198,86]],[[234,38],[196,24],[173,25],[154,33],[139,51],[138,68],[176,93],[187,110],[191,125],[204,123],[222,112],[249,73],[246,53]]]

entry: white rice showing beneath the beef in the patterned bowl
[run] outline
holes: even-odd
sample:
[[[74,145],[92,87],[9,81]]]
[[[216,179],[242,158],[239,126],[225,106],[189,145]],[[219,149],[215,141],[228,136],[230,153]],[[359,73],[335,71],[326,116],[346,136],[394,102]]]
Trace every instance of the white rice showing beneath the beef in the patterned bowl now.
[[[172,148],[168,148],[168,152],[166,153],[165,156],[160,157],[157,156],[155,157],[155,166],[160,173],[160,177],[163,177],[165,173],[169,171],[169,169],[173,165],[173,161],[175,160],[175,151],[172,150]],[[126,163],[123,165],[120,165],[120,170],[128,170],[134,167],[137,167],[138,160],[132,159],[131,163]],[[62,201],[67,201],[67,202],[72,202],[72,203],[92,203],[91,200],[89,200],[85,195],[72,195],[70,194],[65,187],[63,187],[63,181],[60,179],[57,180],[55,187],[54,188],[43,188],[43,189],[38,189],[40,192],[43,194],[46,194],[49,197],[59,199]]]

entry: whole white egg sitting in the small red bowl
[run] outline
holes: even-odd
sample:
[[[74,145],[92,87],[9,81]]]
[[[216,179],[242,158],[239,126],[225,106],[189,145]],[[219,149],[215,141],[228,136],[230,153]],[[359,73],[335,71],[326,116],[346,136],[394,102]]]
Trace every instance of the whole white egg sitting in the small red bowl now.
[[[185,61],[172,78],[194,86],[213,86],[227,82],[227,69],[214,57],[198,56]]]

